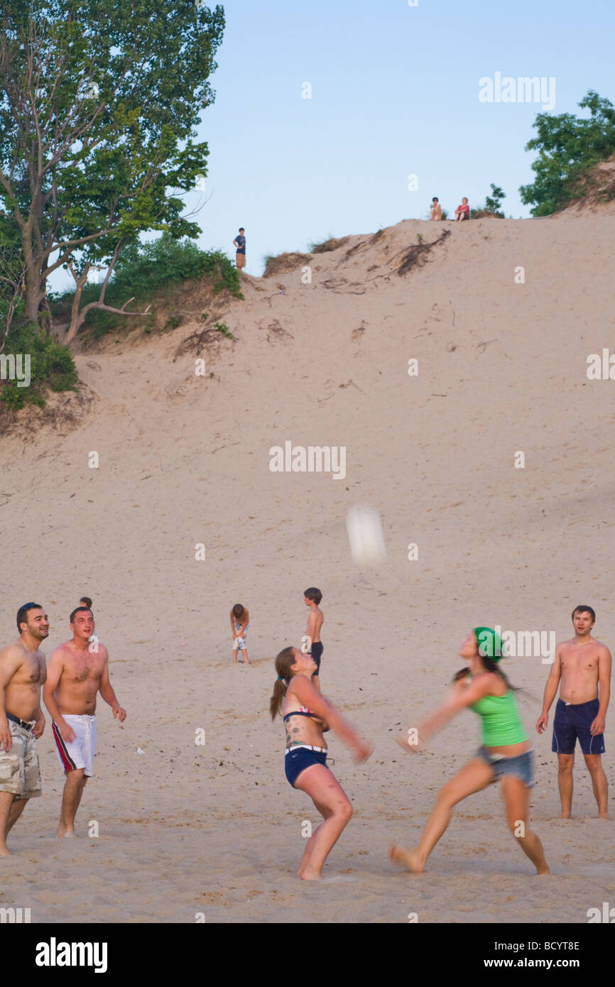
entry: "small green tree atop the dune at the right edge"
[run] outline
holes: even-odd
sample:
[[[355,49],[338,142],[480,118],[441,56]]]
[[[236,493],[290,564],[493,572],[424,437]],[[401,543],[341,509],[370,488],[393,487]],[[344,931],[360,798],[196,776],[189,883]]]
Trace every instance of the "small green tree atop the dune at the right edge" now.
[[[533,203],[534,216],[547,216],[578,198],[587,170],[615,152],[613,104],[590,89],[578,106],[589,111],[588,119],[538,114],[534,121],[537,136],[525,150],[539,152],[532,165],[536,181],[519,189],[521,201]]]

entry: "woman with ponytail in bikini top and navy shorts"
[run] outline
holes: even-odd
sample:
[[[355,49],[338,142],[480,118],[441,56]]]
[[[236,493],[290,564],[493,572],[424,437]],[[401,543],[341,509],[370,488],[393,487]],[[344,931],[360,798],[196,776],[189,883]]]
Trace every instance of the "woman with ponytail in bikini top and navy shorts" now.
[[[329,729],[338,733],[356,763],[369,757],[371,747],[312,684],[316,662],[310,654],[284,647],[275,658],[275,671],[269,713],[271,720],[283,715],[286,779],[312,799],[324,818],[307,841],[297,873],[302,880],[321,880],[325,861],[352,815],[346,793],[327,767],[323,733]]]

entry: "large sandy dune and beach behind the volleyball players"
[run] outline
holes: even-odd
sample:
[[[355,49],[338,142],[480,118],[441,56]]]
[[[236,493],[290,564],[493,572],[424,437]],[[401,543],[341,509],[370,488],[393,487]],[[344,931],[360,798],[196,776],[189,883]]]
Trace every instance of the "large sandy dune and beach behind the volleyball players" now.
[[[400,275],[419,236],[443,230]],[[498,623],[561,641],[582,602],[597,612],[595,636],[615,644],[615,383],[586,376],[587,355],[613,344],[614,241],[608,216],[406,220],[313,256],[311,283],[301,266],[244,275],[245,301],[221,312],[236,342],[201,352],[204,377],[198,353],[178,355],[196,322],[77,356],[92,397],[78,426],[17,430],[0,445],[12,549],[2,641],[18,606],[36,599],[51,619],[50,653],[89,593],[128,719],[119,726],[101,703],[82,837],[61,843],[47,727],[44,796],[14,830],[0,905],[31,907],[33,922],[193,922],[199,912],[207,922],[407,922],[417,912],[436,923],[583,923],[613,900],[614,823],[590,818],[580,755],[575,818],[554,820],[550,731],[534,734],[533,818],[554,872],[540,886],[495,789],[463,803],[423,877],[397,873],[387,848],[413,841],[438,786],[478,745],[471,714],[424,758],[404,759],[391,742],[396,723],[439,700],[462,634]],[[31,413],[21,414],[24,424]],[[345,446],[346,477],[272,473],[269,449],[286,441]],[[381,513],[386,569],[350,563],[345,515],[358,502]],[[310,584],[324,592],[323,691],[376,745],[357,768],[331,741],[355,807],[328,866],[351,878],[339,887],[294,876],[313,810],[285,781],[281,728],[267,715],[270,659],[299,643]],[[237,600],[250,608],[253,668],[230,663]],[[507,670],[533,729],[548,667],[537,656]],[[611,789],[613,723],[611,710]]]

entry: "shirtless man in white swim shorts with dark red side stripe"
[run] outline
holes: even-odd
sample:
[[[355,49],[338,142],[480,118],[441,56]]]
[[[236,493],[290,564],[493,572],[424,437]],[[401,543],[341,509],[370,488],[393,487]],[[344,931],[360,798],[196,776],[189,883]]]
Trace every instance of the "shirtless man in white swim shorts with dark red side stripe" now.
[[[94,617],[88,607],[70,615],[72,641],[56,647],[49,658],[42,690],[51,715],[57,757],[65,775],[62,808],[56,836],[75,835],[75,815],[88,778],[94,774],[96,753],[96,694],[100,692],[122,723],[126,711],[115,698],[109,681],[109,652],[94,638]]]

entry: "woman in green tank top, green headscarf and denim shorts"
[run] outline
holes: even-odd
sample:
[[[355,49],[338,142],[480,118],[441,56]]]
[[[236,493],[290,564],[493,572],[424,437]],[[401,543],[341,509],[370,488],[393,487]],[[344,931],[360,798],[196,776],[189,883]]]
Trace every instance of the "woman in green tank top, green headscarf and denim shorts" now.
[[[514,690],[500,671],[499,635],[477,627],[463,642],[459,654],[467,667],[457,672],[446,702],[407,733],[396,737],[407,752],[420,753],[424,742],[463,709],[481,718],[482,745],[474,757],[438,793],[421,842],[410,850],[393,844],[391,859],[408,871],[422,873],[427,857],[445,832],[453,805],[500,781],[508,827],[538,873],[549,873],[542,843],[528,823],[533,755],[521,721]]]

